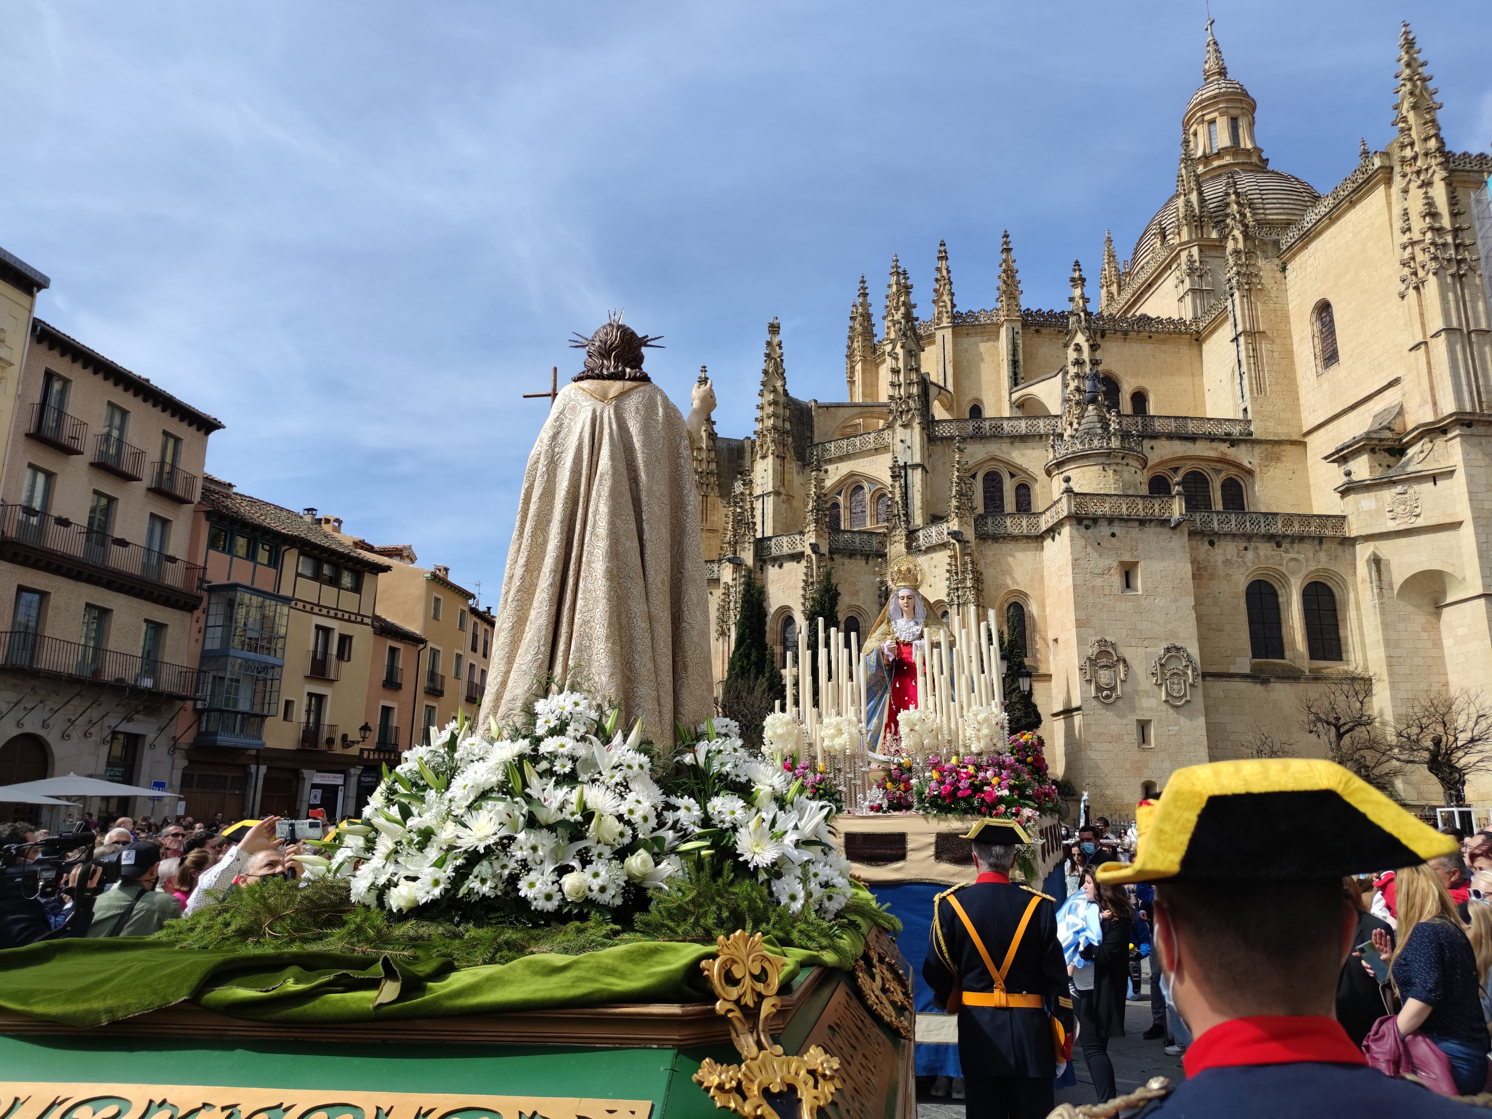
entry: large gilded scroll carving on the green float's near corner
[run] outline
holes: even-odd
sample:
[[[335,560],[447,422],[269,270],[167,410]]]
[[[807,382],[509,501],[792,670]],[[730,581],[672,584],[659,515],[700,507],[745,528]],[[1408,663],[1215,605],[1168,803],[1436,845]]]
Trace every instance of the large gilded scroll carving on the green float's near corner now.
[[[739,1065],[722,1065],[706,1058],[694,1082],[716,1107],[742,1119],[782,1119],[768,1097],[792,1092],[798,1097],[801,1119],[816,1119],[819,1109],[840,1089],[840,1062],[821,1046],[809,1046],[801,1056],[783,1056],[771,1040],[771,1015],[782,1000],[777,985],[783,961],[762,946],[761,934],[736,931],[718,938],[718,955],[700,968],[715,989],[715,1012],[730,1019],[731,1041],[745,1058]]]

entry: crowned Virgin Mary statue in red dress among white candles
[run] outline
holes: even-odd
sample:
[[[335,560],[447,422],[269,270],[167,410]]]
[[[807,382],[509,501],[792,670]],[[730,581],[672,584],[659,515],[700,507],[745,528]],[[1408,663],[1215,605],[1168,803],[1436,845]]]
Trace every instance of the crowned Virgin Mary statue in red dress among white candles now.
[[[900,737],[901,712],[918,706],[916,652],[943,627],[928,621],[928,601],[918,586],[922,567],[912,557],[891,565],[891,598],[865,640],[865,731],[870,749],[886,752]]]

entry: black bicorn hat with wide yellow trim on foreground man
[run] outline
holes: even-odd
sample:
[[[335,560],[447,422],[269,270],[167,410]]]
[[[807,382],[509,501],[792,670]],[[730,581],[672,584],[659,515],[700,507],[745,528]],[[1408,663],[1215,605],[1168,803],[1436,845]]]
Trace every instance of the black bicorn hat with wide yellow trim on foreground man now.
[[[1134,862],[1100,882],[1304,880],[1413,867],[1456,850],[1361,777],[1329,761],[1214,761],[1176,770],[1135,813]]]

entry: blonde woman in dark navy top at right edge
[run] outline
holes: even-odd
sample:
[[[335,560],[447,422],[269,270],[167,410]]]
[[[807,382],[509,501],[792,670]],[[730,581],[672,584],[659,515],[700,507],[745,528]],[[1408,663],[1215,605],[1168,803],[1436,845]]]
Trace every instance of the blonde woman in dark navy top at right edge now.
[[[1467,927],[1432,867],[1404,867],[1395,883],[1398,943],[1389,974],[1404,1003],[1398,1031],[1434,1041],[1450,1061],[1456,1091],[1476,1095],[1488,1079],[1488,1029]],[[1373,932],[1373,943],[1380,953],[1391,953],[1382,930]]]

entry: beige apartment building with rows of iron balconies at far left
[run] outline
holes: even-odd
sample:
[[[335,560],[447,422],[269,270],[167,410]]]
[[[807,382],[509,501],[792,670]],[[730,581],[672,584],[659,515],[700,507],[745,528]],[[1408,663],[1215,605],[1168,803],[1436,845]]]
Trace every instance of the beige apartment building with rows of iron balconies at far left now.
[[[222,424],[40,319],[21,346],[15,283],[34,297],[45,278],[13,258],[0,273],[0,783],[79,773],[175,791],[203,604],[192,507]],[[161,815],[175,800],[90,807]]]

